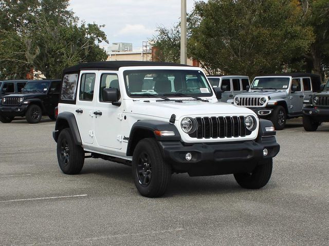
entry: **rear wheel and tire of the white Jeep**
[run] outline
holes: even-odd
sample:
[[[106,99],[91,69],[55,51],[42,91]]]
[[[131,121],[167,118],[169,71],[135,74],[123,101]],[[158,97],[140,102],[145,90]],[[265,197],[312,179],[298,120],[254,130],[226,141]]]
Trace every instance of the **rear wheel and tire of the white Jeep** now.
[[[71,130],[65,128],[57,140],[58,164],[65,174],[78,174],[83,168],[84,151],[75,144]]]

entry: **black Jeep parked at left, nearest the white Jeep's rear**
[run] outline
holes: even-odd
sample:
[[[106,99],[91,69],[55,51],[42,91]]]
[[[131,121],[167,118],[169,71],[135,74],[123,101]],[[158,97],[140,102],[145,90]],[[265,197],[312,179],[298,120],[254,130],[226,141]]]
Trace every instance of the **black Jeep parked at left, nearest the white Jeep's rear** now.
[[[0,121],[9,123],[14,117],[24,117],[30,124],[38,123],[42,115],[55,119],[61,80],[30,80],[19,94],[4,96],[0,105]]]

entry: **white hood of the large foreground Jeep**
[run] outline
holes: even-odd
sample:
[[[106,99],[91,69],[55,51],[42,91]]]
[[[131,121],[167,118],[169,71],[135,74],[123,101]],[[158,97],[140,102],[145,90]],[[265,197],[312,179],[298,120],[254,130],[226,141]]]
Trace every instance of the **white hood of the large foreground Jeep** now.
[[[155,101],[150,100],[146,103],[143,100],[134,101],[131,109],[132,113],[141,115],[150,115],[161,118],[170,119],[172,114],[176,115],[176,119],[182,116],[202,116],[202,115],[243,115],[252,114],[248,108],[235,106],[227,103],[207,103],[203,101]]]

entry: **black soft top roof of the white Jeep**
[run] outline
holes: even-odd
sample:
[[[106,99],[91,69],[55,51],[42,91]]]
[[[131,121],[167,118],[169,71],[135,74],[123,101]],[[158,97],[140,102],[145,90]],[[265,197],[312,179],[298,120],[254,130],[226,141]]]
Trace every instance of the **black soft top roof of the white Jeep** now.
[[[65,68],[63,73],[77,72],[82,69],[86,70],[118,70],[121,67],[137,67],[137,66],[178,66],[191,67],[176,63],[161,63],[156,61],[136,61],[136,60],[115,60],[115,61],[95,61],[93,63],[81,63],[72,67]]]

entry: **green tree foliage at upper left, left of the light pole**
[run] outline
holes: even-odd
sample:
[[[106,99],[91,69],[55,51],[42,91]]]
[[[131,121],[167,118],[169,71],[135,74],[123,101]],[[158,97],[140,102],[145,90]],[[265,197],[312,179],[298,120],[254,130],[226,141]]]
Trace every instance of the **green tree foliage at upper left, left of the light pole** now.
[[[0,0],[0,78],[40,71],[60,78],[63,68],[105,60],[107,42],[96,24],[78,24],[68,0]]]

